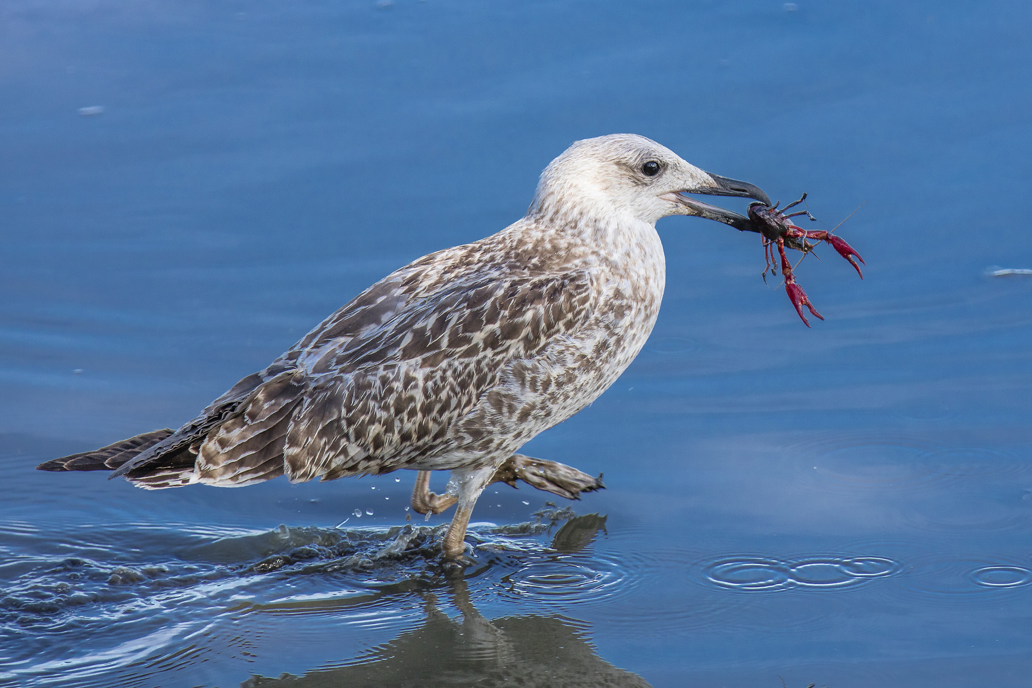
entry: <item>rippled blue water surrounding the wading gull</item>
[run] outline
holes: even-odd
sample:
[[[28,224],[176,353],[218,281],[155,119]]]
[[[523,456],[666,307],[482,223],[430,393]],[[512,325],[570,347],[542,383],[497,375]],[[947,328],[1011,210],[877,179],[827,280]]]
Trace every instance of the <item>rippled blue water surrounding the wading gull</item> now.
[[[6,0],[0,685],[1027,686],[1032,277],[985,272],[1032,268],[1030,23],[1025,2]],[[799,268],[827,318],[807,329],[756,235],[662,221],[645,351],[524,450],[605,472],[574,504],[607,516],[586,547],[495,534],[549,496],[503,485],[464,583],[418,558],[305,568],[374,556],[414,476],[34,470],[192,418],[613,132],[806,191],[814,227],[863,204],[838,231],[867,266]]]

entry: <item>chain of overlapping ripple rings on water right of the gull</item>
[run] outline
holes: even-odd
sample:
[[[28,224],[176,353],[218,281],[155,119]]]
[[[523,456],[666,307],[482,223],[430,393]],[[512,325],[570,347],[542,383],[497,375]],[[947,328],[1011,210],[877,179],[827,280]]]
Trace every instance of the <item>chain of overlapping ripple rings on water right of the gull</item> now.
[[[833,589],[885,578],[901,564],[888,557],[817,556],[799,560],[734,556],[706,567],[706,579],[722,588],[773,592],[792,588]]]

